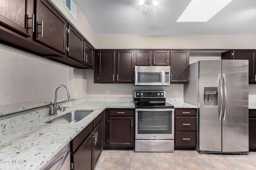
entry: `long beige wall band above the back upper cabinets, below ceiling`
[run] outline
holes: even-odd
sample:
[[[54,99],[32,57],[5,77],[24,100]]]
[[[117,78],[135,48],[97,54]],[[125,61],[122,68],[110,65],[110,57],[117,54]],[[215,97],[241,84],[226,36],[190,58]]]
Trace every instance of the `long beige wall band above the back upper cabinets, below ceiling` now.
[[[256,49],[256,35],[97,35],[97,49]]]

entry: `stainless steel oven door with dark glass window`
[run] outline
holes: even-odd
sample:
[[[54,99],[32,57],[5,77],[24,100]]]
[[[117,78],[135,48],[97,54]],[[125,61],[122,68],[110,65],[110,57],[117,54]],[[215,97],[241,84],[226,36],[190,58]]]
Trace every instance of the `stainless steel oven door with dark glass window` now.
[[[174,109],[135,109],[135,139],[174,139]]]

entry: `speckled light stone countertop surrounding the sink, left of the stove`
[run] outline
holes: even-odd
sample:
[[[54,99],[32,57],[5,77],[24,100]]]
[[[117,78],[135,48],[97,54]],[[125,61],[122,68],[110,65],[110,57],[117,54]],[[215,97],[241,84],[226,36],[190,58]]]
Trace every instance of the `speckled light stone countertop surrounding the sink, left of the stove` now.
[[[134,103],[85,102],[69,107],[65,112],[58,111],[56,116],[44,116],[0,131],[0,170],[39,170],[105,108],[134,108]],[[73,110],[94,111],[76,123],[45,123]]]

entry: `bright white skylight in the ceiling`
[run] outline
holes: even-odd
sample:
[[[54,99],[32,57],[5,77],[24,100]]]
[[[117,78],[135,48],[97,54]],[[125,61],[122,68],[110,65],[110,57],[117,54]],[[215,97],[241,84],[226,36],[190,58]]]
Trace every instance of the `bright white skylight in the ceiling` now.
[[[191,0],[176,22],[207,22],[233,0]]]

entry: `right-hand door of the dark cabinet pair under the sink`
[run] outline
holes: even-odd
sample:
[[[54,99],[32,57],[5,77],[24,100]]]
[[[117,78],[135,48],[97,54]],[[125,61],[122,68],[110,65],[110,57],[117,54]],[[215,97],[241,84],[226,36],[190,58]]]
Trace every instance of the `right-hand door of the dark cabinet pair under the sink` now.
[[[100,153],[103,149],[103,137],[104,137],[104,121],[100,121],[100,123],[94,129],[94,166],[100,156]]]

